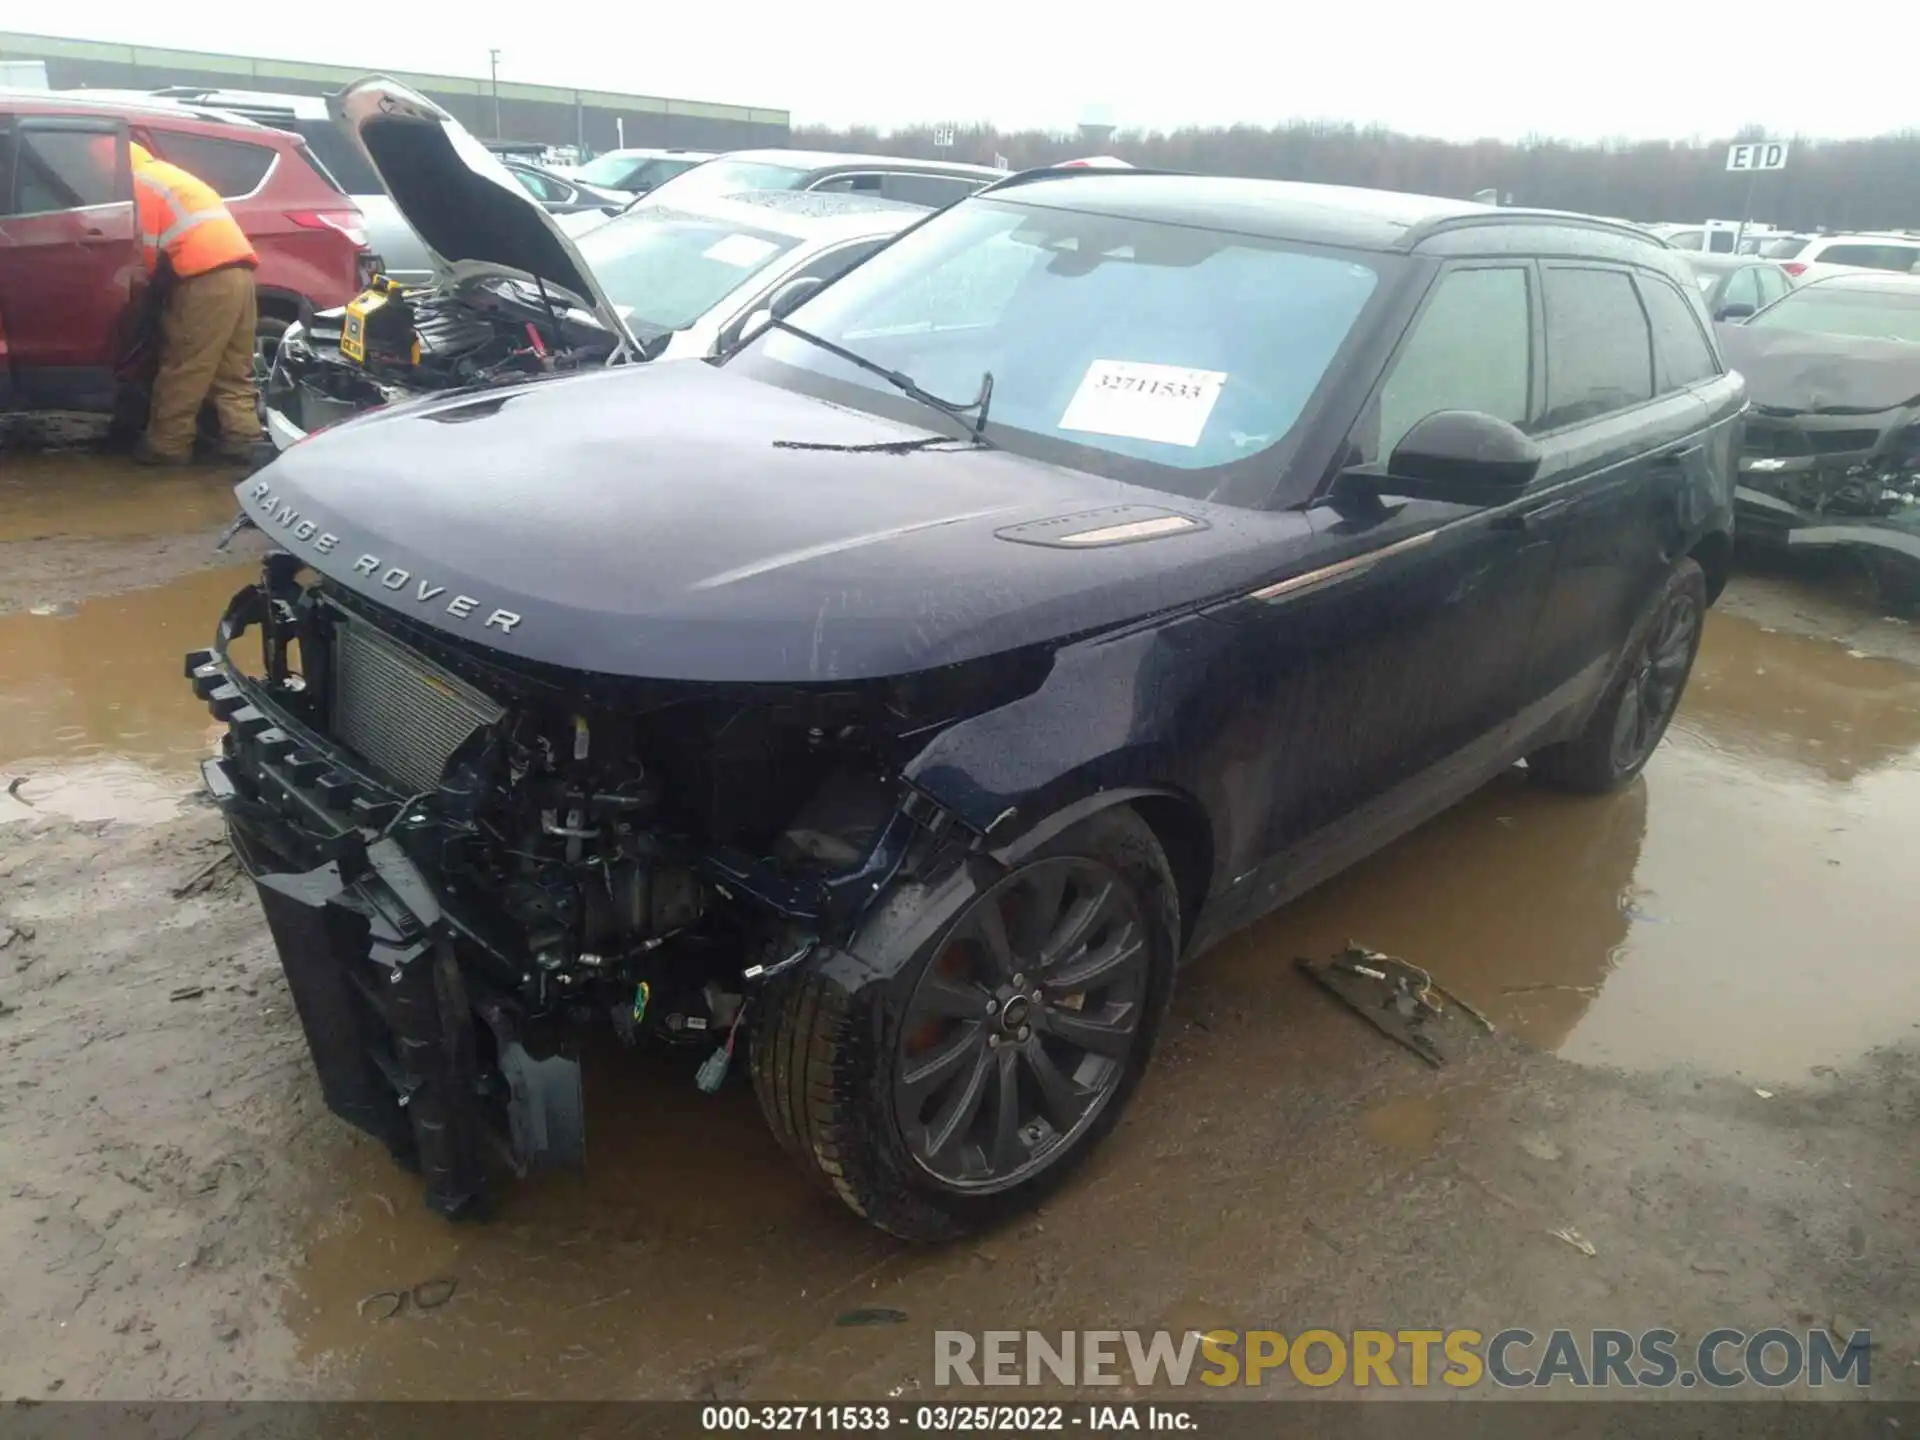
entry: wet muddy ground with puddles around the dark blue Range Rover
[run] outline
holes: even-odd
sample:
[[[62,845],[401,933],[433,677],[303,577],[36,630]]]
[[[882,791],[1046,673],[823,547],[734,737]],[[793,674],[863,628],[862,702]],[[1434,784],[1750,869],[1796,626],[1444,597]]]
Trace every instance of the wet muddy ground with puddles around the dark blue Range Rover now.
[[[0,459],[0,1398],[877,1398],[935,1329],[1776,1323],[1868,1327],[1872,1392],[1920,1394],[1920,641],[1845,578],[1741,576],[1630,791],[1515,774],[1198,962],[1023,1223],[900,1246],[743,1085],[609,1046],[589,1169],[449,1227],[321,1106],[190,795],[228,482]],[[1290,964],[1350,937],[1498,1033],[1386,1044]]]

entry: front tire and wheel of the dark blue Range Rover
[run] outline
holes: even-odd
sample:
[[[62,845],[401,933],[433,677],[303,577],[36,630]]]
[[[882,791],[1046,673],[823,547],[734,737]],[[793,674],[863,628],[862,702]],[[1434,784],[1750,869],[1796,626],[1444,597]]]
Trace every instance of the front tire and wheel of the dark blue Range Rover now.
[[[781,1146],[854,1213],[906,1240],[952,1240],[1052,1192],[1119,1119],[1173,987],[1173,874],[1152,829],[1125,806],[1071,826],[1006,876],[958,881],[902,887],[847,950],[778,983],[751,1056]],[[1006,920],[1021,885],[1035,899]],[[1048,914],[1048,897],[1054,918],[1035,920]],[[1002,962],[1039,956],[1025,993],[996,1000],[1010,987],[975,987],[964,964],[952,968],[954,956],[972,956],[979,973],[996,973],[989,948],[968,939],[989,924],[983,906],[1000,916]],[[958,1018],[954,998],[975,989],[998,1006],[991,1020]],[[1119,995],[1131,998],[1112,998]],[[935,1012],[931,1023],[952,1029],[922,1044],[924,1016]],[[1087,1035],[1100,1052],[1064,1069]],[[924,1108],[902,1112],[902,1096],[922,1094],[918,1077],[962,1050],[939,1081],[956,1091],[933,1121]],[[943,1094],[925,1087],[925,1102]],[[1023,1102],[1033,1116],[1021,1123]],[[1077,1117],[1073,1104],[1085,1106]],[[935,1144],[935,1135],[945,1139]],[[985,1173],[960,1173],[968,1165]]]

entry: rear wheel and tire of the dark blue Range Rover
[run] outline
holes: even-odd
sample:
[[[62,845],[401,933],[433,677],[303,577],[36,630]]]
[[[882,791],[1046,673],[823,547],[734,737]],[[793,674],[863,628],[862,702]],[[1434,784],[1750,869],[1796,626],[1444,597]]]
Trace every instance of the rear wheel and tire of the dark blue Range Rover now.
[[[1697,561],[1682,559],[1634,626],[1620,674],[1594,707],[1586,730],[1534,751],[1526,768],[1549,785],[1584,795],[1632,783],[1680,708],[1705,618],[1707,574]]]

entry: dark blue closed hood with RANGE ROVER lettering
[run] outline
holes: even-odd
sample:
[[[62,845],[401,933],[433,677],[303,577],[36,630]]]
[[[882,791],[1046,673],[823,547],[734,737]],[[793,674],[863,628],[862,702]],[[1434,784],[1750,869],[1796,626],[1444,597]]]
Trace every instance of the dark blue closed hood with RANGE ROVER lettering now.
[[[1087,634],[1252,588],[1309,538],[1296,515],[703,363],[376,411],[236,493],[276,543],[409,620],[503,657],[705,682],[910,674]]]

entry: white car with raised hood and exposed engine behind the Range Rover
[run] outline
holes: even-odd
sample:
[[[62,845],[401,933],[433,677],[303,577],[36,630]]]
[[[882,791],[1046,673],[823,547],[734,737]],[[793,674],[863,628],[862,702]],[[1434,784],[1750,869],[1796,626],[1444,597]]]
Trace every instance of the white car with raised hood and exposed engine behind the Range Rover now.
[[[432,100],[372,77],[328,104],[420,234],[432,282],[369,290],[286,332],[265,386],[280,449],[436,392],[714,355],[778,292],[797,301],[929,213],[753,192],[645,205],[572,238]]]

